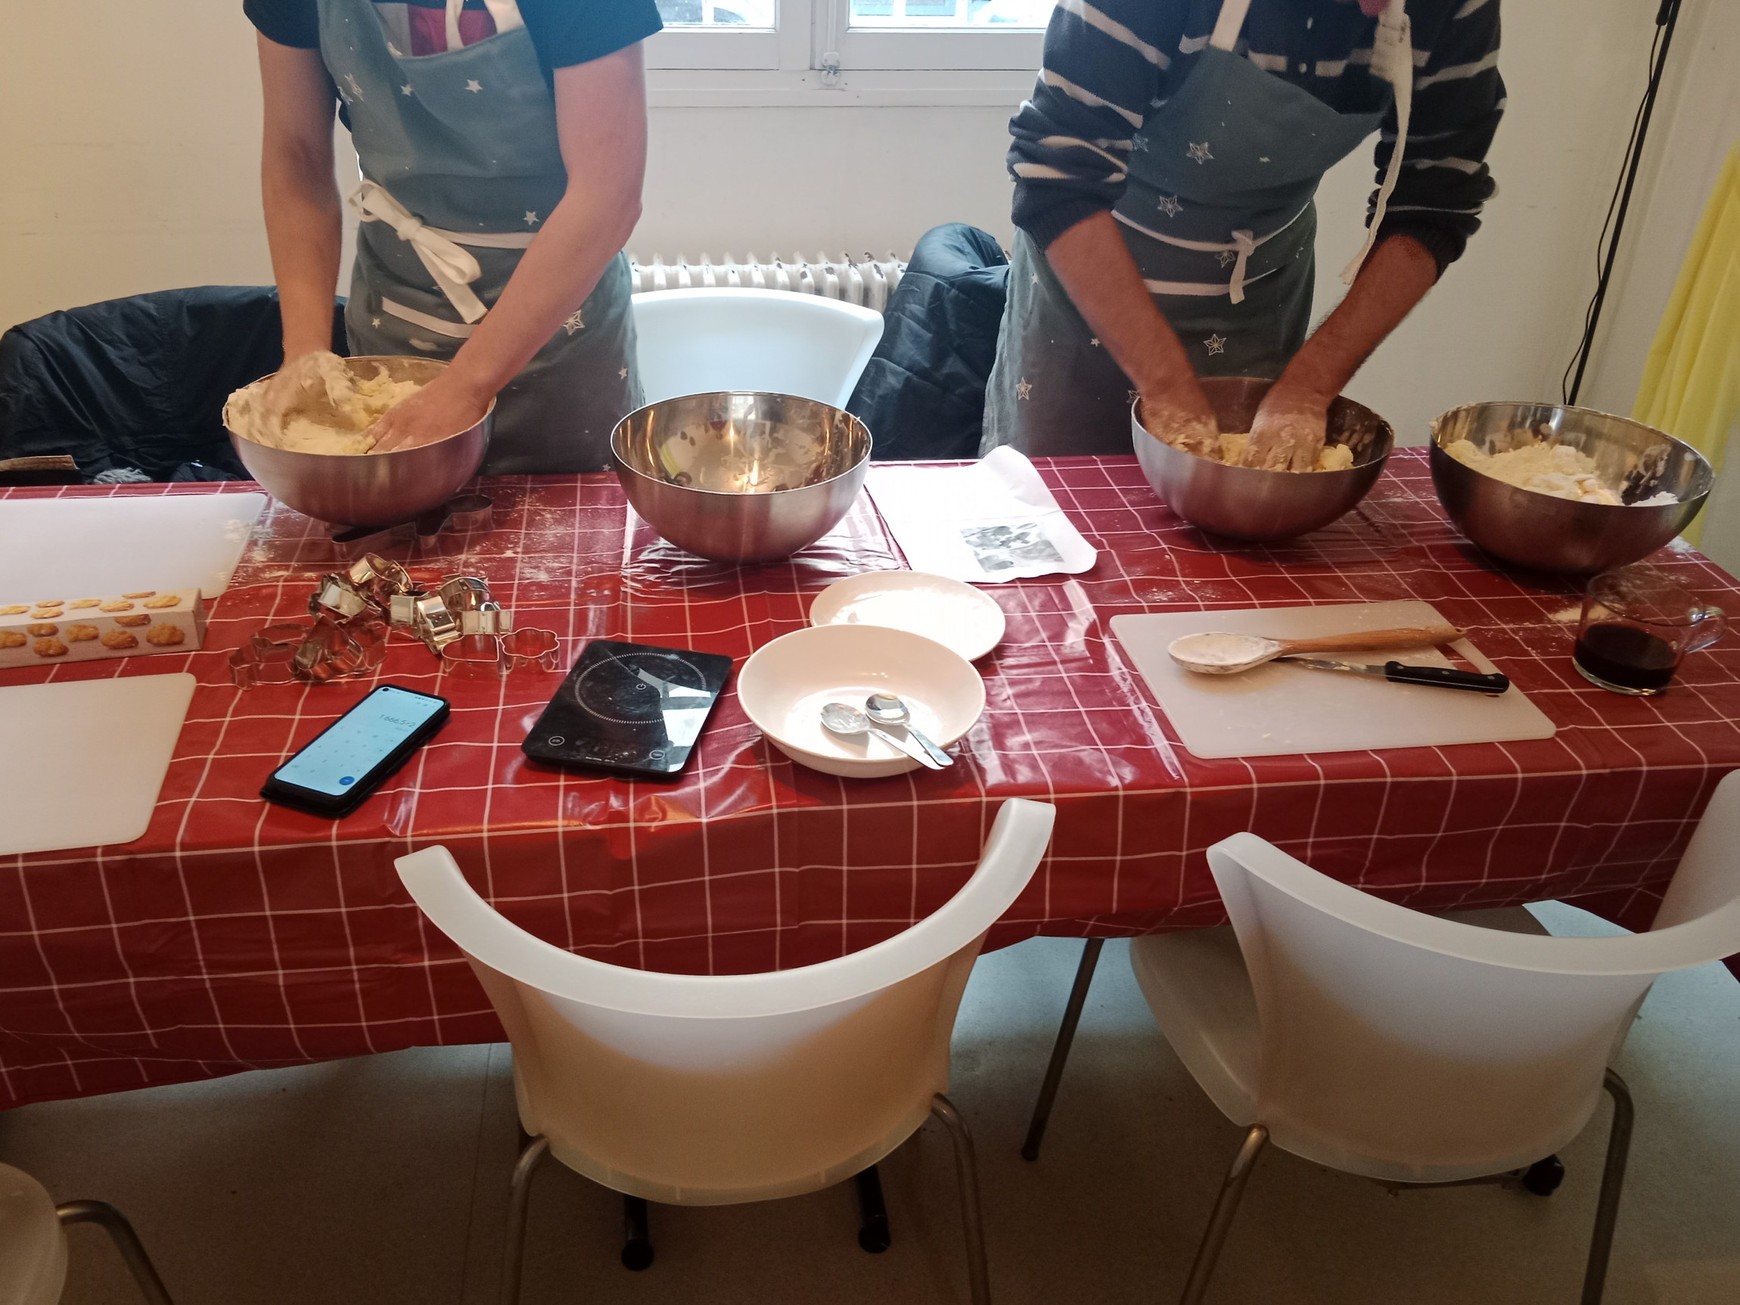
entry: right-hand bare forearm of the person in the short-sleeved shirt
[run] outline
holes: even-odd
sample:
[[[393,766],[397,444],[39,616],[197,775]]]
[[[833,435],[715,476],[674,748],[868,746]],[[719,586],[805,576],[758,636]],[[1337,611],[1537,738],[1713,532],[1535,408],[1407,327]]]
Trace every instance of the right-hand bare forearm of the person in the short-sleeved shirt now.
[[[571,186],[454,357],[454,383],[487,400],[513,379],[592,294],[639,218],[639,188],[600,195]]]

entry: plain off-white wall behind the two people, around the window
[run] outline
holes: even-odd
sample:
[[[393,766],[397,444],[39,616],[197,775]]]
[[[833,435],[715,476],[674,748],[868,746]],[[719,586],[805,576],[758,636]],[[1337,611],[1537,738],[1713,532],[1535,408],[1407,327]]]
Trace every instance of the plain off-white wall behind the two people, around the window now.
[[[1688,14],[1714,30],[1719,9],[1733,17],[1731,0],[1690,0]],[[1557,393],[1653,14],[1643,0],[1509,0],[1510,113],[1486,230],[1352,386],[1404,438],[1460,402]],[[1735,54],[1728,40],[1728,66]],[[941,221],[1007,240],[1011,108],[654,108],[630,249],[903,254]],[[0,122],[0,325],[169,285],[270,280],[252,35],[233,0],[10,5]],[[1707,136],[1690,111],[1672,129]],[[1338,292],[1369,186],[1364,151],[1324,183],[1319,308]],[[1610,353],[1648,339],[1674,266],[1632,266]],[[1618,378],[1627,364],[1604,365]]]

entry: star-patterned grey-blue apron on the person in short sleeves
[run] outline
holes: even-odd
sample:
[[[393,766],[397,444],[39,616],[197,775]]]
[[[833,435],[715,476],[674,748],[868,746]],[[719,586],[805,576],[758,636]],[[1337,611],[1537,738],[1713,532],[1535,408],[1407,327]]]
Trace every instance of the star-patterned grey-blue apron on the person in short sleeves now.
[[[320,56],[350,118],[364,183],[351,197],[351,353],[451,358],[501,294],[567,190],[555,92],[513,0],[487,0],[494,35],[400,50],[374,0],[318,0]],[[640,405],[628,259],[496,397],[484,472],[593,472]]]

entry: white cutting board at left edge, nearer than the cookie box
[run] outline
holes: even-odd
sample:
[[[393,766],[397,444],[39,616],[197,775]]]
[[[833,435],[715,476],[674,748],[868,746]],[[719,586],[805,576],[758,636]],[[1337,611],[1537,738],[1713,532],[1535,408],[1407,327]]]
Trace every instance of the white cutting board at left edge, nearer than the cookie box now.
[[[0,689],[0,856],[132,842],[193,699],[193,677]]]

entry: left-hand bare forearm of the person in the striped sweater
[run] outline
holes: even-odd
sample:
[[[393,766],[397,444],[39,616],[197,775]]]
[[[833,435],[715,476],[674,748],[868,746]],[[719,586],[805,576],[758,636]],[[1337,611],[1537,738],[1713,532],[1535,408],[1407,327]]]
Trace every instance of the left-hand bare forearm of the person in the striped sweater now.
[[[1206,409],[1185,346],[1154,306],[1110,212],[1075,223],[1051,242],[1046,259],[1143,400]]]

